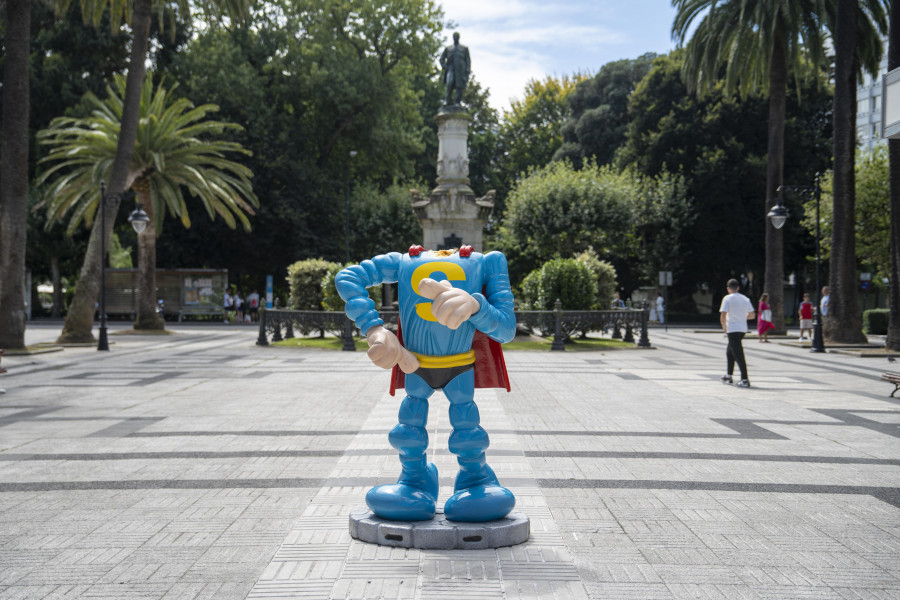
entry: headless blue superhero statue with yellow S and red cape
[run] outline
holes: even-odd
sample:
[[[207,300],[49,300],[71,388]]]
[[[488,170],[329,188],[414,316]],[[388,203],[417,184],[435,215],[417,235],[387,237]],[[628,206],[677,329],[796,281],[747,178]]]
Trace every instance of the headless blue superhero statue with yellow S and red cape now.
[[[373,285],[395,282],[399,338],[382,326],[366,292]],[[444,515],[451,521],[474,522],[506,516],[516,499],[486,462],[488,434],[479,424],[474,401],[476,385],[509,389],[498,344],[510,341],[516,329],[506,257],[500,252],[473,252],[471,246],[458,252],[413,246],[407,254],[390,252],[343,269],[335,286],[346,302],[347,315],[366,336],[372,362],[394,368],[395,382],[406,374],[399,423],[389,435],[400,453],[402,472],[397,483],[369,490],[366,504],[385,519],[434,517],[438,473],[426,460],[425,427],[428,398],[441,389],[450,401],[449,448],[459,462]],[[485,350],[486,356],[480,358]]]

